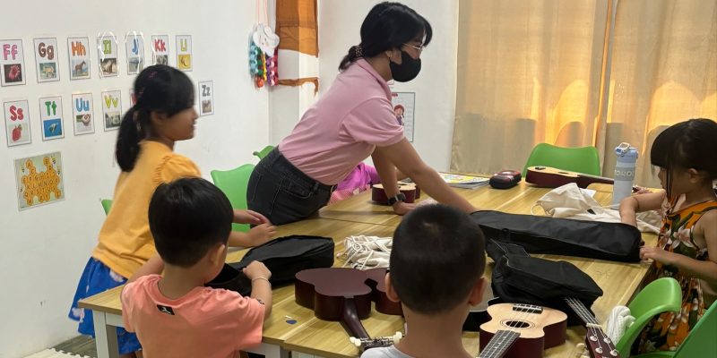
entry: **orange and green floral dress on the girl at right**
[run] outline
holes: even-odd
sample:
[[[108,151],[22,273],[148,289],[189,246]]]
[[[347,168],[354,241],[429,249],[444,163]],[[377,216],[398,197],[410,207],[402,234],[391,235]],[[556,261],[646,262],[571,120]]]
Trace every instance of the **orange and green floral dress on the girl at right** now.
[[[662,204],[662,228],[658,246],[665,251],[685,255],[695,260],[707,260],[707,248],[695,243],[693,229],[697,220],[707,211],[717,209],[717,201],[704,201],[687,208],[671,211],[673,205],[667,200]],[[690,329],[704,314],[704,299],[700,280],[689,277],[678,268],[654,261],[648,269],[646,283],[660,277],[673,277],[682,287],[682,309],[664,312],[652,319],[643,329],[637,353],[652,351],[674,351],[685,341]]]

